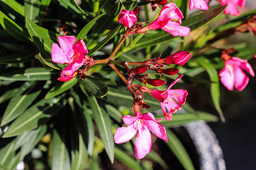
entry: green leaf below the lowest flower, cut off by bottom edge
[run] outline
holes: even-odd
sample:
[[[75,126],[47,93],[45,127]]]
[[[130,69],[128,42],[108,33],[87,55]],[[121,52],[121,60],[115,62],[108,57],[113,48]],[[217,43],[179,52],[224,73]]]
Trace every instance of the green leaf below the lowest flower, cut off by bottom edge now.
[[[139,162],[131,158],[131,156],[118,147],[115,147],[115,157],[131,169],[143,169]]]

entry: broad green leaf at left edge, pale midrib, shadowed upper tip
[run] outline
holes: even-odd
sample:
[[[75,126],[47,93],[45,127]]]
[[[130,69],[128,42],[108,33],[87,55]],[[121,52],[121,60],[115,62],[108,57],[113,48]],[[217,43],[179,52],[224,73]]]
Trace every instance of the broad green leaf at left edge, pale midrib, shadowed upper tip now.
[[[7,105],[2,117],[1,126],[13,121],[22,114],[36,97],[38,97],[42,88],[36,86],[37,84],[35,82],[26,82],[19,88],[18,92]]]

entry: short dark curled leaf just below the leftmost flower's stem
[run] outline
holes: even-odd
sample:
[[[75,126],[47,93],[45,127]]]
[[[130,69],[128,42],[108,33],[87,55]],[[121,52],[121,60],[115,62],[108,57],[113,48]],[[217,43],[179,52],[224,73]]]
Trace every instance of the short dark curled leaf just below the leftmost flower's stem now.
[[[104,97],[109,91],[106,84],[91,77],[89,79],[85,79],[84,81],[80,81],[80,88],[89,91],[96,97]]]

